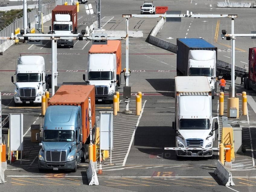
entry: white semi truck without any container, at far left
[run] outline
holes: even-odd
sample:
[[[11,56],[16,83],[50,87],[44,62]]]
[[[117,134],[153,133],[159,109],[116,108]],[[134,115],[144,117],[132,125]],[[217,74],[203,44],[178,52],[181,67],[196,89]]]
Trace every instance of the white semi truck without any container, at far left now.
[[[42,56],[20,56],[16,67],[14,104],[41,104],[46,91],[47,76]],[[47,84],[48,85],[48,84]]]

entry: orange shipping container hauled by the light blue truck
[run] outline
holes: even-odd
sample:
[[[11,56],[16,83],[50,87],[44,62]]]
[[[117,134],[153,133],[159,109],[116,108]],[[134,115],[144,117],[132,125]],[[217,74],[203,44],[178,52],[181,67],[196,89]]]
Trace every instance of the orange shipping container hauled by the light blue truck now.
[[[91,98],[91,125],[95,125],[95,86],[94,85],[61,85],[49,105],[78,105],[82,108],[83,143],[90,136],[89,100]]]

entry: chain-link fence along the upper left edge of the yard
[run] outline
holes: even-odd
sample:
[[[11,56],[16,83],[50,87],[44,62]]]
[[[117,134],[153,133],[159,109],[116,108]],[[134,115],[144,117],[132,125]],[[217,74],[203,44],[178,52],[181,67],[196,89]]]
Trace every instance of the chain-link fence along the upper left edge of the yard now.
[[[65,0],[55,0],[53,2],[44,2],[42,3],[42,13],[43,16],[46,16],[48,14],[52,13],[53,8],[56,7],[56,5],[64,5],[64,2],[67,2]],[[70,5],[70,4],[69,4]],[[32,22],[34,22],[35,15],[38,15],[38,8],[29,9],[30,12],[27,12],[27,23],[28,25]],[[10,23],[8,26],[4,26],[4,29],[0,31],[1,37],[11,37],[11,33],[14,33],[15,29],[20,28],[23,29],[23,17],[15,18],[12,23]],[[0,40],[0,46],[5,42],[6,40]]]

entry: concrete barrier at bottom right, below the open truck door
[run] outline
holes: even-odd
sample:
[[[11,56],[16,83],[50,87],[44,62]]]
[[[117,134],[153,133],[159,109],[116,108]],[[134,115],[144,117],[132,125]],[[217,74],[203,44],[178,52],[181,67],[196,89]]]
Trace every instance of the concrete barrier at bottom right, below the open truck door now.
[[[232,173],[218,160],[214,174],[225,186],[235,186],[232,180]]]

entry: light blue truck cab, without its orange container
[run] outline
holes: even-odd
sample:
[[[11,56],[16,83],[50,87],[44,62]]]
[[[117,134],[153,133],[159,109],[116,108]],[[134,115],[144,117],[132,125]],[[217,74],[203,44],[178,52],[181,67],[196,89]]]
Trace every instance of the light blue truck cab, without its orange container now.
[[[82,157],[81,106],[47,107],[42,142],[39,145],[39,171],[49,169],[76,172]]]

